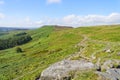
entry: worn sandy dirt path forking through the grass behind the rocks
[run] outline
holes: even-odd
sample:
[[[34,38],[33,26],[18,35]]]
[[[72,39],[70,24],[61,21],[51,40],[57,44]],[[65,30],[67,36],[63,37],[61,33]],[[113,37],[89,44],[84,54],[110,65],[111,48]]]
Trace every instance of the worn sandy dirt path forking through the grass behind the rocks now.
[[[87,42],[94,42],[95,44],[103,44],[106,45],[104,48],[94,51],[93,54],[90,57],[86,57],[84,55],[82,55],[82,53],[84,53],[84,51],[87,48]],[[120,42],[109,42],[109,41],[100,41],[100,40],[92,40],[89,37],[87,37],[86,35],[83,35],[83,40],[78,43],[75,47],[82,47],[82,49],[80,49],[78,52],[75,52],[74,54],[71,54],[67,57],[68,60],[72,59],[73,57],[78,57],[80,56],[83,59],[86,59],[88,61],[93,61],[94,59],[96,59],[96,54],[99,52],[102,52],[104,50],[110,49],[111,46],[113,45],[120,45]],[[101,59],[98,58],[97,59],[97,63],[100,63]]]

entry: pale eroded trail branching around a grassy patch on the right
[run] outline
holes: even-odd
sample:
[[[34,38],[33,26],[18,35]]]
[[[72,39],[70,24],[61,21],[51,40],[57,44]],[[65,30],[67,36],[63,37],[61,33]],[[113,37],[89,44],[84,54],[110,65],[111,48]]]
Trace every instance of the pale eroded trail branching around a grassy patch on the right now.
[[[82,35],[83,36],[83,40],[76,44],[75,47],[79,47],[79,51],[78,52],[75,52],[74,54],[71,54],[67,57],[68,60],[72,60],[72,58],[74,57],[80,57],[80,58],[83,58],[85,60],[88,60],[90,62],[92,62],[93,60],[96,60],[96,64],[97,65],[100,65],[100,61],[101,61],[101,57],[97,58],[96,55],[101,53],[101,52],[104,52],[107,50],[108,51],[111,51],[111,48],[113,46],[119,46],[120,45],[120,42],[109,42],[109,41],[100,41],[100,40],[93,40],[93,39],[90,39],[88,36],[86,35]],[[88,56],[85,56],[84,55],[84,52],[86,51],[87,49],[87,46],[88,46],[88,42],[91,42],[91,43],[94,43],[94,44],[102,44],[104,45],[103,48],[100,48],[98,50],[95,50],[93,53],[91,53],[91,55],[88,57]],[[109,54],[109,56],[112,56],[113,54]]]

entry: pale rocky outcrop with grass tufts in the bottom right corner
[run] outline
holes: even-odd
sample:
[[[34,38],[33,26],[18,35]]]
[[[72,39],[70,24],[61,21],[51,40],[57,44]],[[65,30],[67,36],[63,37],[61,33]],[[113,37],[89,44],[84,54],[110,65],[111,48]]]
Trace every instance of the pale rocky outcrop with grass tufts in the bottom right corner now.
[[[102,80],[120,80],[120,60],[106,60],[97,74]]]

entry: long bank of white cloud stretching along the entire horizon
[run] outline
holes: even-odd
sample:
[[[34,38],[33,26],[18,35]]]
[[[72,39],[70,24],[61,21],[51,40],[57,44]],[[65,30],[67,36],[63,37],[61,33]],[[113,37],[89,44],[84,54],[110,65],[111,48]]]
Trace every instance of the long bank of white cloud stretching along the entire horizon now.
[[[0,14],[0,19],[4,18]],[[2,20],[1,20],[2,21]],[[120,13],[111,13],[109,15],[67,15],[61,18],[45,17],[39,20],[32,20],[30,17],[21,19],[19,21],[13,20],[10,23],[3,23],[0,21],[0,26],[13,26],[13,27],[40,27],[42,25],[65,25],[65,26],[94,26],[94,25],[109,25],[120,24]]]

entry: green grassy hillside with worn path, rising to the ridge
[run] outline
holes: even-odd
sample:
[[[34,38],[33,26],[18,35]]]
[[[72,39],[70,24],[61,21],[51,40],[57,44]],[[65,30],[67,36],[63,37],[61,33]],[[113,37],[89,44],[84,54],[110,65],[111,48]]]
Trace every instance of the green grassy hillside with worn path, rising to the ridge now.
[[[51,64],[68,58],[86,59],[98,65],[107,60],[120,60],[120,25],[79,28],[44,26],[19,32],[26,32],[32,40],[19,45],[22,53],[17,53],[16,47],[0,50],[0,80],[35,80]],[[14,34],[15,31],[11,31],[0,38]],[[93,80],[93,77],[98,79],[93,71],[89,71],[79,73],[75,80]]]

